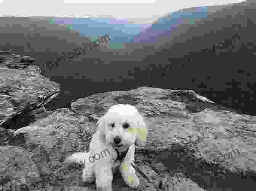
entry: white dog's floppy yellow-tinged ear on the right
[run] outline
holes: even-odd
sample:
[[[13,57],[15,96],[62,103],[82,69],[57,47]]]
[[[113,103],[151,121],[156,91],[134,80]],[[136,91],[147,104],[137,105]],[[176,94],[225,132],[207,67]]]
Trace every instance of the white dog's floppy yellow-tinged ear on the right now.
[[[138,113],[136,145],[144,147],[147,141],[147,124],[144,118]]]

